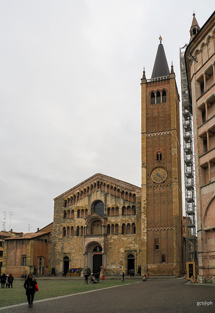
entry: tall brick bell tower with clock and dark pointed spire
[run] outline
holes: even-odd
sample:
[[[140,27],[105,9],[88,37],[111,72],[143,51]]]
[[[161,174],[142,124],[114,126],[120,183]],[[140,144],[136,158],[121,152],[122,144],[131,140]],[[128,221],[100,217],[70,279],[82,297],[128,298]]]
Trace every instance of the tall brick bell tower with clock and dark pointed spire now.
[[[142,273],[179,276],[182,185],[179,94],[159,38],[150,79],[142,88]]]

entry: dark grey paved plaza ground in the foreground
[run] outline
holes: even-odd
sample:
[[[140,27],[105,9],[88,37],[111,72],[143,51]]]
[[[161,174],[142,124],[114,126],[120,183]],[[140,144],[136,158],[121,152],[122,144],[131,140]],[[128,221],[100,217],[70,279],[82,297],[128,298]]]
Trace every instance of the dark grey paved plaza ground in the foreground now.
[[[185,279],[138,281],[102,290],[0,308],[0,313],[205,313],[215,312],[215,286]]]

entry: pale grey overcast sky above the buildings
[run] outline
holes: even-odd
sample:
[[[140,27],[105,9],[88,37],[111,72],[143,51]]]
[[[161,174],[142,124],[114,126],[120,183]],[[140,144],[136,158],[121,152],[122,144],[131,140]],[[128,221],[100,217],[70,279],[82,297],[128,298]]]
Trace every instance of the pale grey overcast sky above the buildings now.
[[[179,48],[212,2],[0,0],[2,230],[3,212],[7,231],[51,223],[53,198],[96,173],[141,186],[143,67],[161,35],[180,90]]]

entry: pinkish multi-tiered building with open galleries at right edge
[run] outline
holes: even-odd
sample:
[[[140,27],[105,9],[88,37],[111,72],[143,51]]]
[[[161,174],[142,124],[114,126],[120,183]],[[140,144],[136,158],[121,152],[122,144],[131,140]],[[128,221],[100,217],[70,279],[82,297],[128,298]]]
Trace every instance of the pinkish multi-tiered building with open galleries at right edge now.
[[[215,275],[215,12],[200,28],[193,14],[185,51],[192,102],[199,277]]]

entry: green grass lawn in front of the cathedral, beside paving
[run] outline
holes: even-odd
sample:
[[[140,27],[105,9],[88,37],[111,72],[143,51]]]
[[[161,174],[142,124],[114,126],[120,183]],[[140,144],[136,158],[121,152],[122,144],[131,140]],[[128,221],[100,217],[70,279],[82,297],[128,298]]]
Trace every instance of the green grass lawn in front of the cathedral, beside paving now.
[[[57,297],[60,295],[67,295],[72,293],[78,293],[83,291],[102,289],[112,286],[118,286],[123,284],[134,283],[137,281],[108,281],[99,284],[84,284],[84,281],[51,281],[51,280],[39,280],[39,291],[35,293],[34,300],[46,299]],[[12,304],[18,304],[27,302],[25,295],[25,289],[23,287],[24,282],[14,281],[13,288],[0,288],[0,307],[5,307]]]

